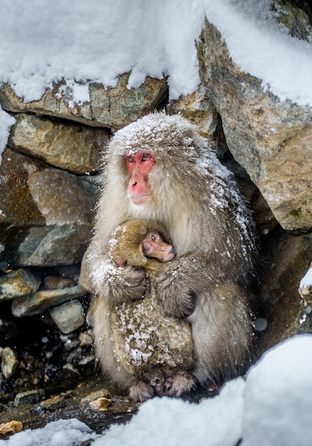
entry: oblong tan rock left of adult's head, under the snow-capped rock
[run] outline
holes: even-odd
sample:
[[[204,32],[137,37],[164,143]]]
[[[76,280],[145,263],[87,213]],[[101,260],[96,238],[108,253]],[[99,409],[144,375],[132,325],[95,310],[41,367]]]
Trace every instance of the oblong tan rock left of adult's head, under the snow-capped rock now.
[[[106,130],[65,125],[36,115],[15,115],[8,146],[75,174],[97,172],[109,136]]]

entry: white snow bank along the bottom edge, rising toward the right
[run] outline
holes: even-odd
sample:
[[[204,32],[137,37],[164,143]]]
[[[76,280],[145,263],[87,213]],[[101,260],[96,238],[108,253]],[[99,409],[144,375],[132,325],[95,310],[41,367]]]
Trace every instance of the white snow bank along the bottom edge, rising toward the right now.
[[[264,353],[246,381],[226,383],[199,404],[154,398],[124,425],[90,433],[78,420],[19,432],[7,446],[311,446],[312,335],[297,335]],[[3,440],[4,441],[4,440]],[[1,442],[1,441],[0,441]]]

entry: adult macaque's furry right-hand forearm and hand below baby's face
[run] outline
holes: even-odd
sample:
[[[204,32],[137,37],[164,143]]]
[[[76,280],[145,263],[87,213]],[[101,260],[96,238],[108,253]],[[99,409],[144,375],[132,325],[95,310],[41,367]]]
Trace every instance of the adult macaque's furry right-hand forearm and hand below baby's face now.
[[[156,296],[168,316],[185,317],[193,313],[200,291],[198,267],[192,258],[177,258],[164,264],[156,275]]]

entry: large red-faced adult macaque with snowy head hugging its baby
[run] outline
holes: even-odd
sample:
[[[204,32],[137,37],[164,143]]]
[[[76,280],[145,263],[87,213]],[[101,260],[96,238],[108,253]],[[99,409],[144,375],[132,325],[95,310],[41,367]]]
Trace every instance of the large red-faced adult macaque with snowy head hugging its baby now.
[[[195,350],[193,376],[217,383],[244,372],[252,356],[252,294],[257,237],[251,213],[208,141],[181,116],[147,115],[112,138],[103,172],[95,234],[82,264],[80,284],[94,292],[95,347],[104,363],[109,330],[102,301],[141,299],[144,270],[118,267],[107,242],[130,218],[166,229],[176,258],[155,277],[155,295],[168,316],[187,318]],[[144,385],[109,365],[117,384],[146,398]],[[179,390],[181,392],[181,389]]]

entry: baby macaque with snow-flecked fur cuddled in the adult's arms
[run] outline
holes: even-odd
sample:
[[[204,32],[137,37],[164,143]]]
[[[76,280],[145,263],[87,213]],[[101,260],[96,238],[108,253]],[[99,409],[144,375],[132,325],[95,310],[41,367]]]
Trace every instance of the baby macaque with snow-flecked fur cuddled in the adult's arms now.
[[[149,222],[130,219],[119,225],[108,242],[109,256],[119,268],[144,269],[146,291],[141,299],[122,304],[97,299],[106,315],[106,336],[99,339],[95,331],[102,370],[120,386],[129,387],[134,400],[155,394],[179,396],[194,383],[188,373],[193,368],[190,324],[167,316],[154,291],[163,263],[176,256],[164,237],[163,228]]]

